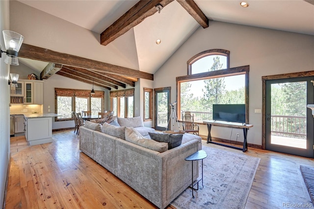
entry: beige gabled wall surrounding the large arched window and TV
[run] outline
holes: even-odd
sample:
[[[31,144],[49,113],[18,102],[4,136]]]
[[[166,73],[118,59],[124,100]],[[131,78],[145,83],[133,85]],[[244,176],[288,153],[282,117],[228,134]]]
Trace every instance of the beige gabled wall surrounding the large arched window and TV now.
[[[211,21],[193,35],[155,73],[154,88],[171,86],[176,101],[176,77],[186,75],[186,61],[209,49],[230,51],[230,67],[250,65],[248,143],[262,145],[262,76],[314,70],[314,36]],[[229,139],[232,129],[213,127],[212,136]],[[243,141],[242,131],[239,141]],[[207,135],[206,126],[200,134]],[[235,139],[234,135],[232,139]]]

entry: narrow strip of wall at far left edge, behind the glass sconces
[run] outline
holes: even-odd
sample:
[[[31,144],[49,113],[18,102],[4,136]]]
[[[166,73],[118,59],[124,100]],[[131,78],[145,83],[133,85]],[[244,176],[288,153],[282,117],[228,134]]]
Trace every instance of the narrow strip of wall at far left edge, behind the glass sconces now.
[[[0,43],[5,51],[2,30],[9,28],[9,1],[0,0]],[[10,152],[10,110],[9,110],[9,65],[4,63],[5,53],[0,59],[0,207],[3,204],[6,173]]]

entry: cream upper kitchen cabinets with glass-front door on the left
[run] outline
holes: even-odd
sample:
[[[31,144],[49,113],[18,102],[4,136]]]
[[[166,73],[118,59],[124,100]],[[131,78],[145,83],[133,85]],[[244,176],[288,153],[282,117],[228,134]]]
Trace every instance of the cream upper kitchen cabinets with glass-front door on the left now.
[[[11,85],[10,96],[11,104],[44,104],[44,81],[20,80],[18,87]]]

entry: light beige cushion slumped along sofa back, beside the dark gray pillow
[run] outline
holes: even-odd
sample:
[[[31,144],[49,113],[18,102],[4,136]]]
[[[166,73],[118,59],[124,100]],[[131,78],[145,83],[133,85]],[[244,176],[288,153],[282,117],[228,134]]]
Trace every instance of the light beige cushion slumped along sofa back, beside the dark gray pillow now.
[[[126,128],[126,140],[137,144],[139,146],[148,148],[150,150],[157,151],[159,153],[165,152],[168,150],[168,144],[164,142],[157,142],[152,139],[144,138],[138,131],[133,127]]]

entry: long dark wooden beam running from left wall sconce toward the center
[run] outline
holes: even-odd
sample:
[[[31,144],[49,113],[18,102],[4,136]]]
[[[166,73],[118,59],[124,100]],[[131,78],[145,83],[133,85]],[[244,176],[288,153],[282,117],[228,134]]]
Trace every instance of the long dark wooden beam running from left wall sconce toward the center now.
[[[25,43],[22,44],[22,47],[19,51],[19,57],[79,67],[87,70],[95,69],[110,74],[154,80],[154,75],[150,73],[112,65],[92,59],[87,59],[67,53],[55,52]]]

